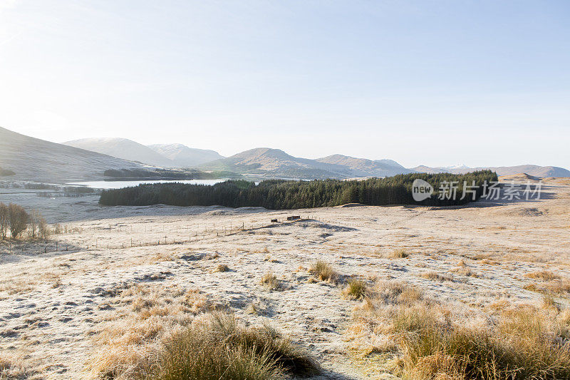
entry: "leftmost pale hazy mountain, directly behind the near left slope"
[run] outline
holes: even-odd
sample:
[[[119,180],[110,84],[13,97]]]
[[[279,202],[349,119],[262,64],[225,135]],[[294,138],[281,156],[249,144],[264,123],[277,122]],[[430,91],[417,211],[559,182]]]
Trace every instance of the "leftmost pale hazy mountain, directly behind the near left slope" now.
[[[82,138],[67,141],[65,145],[91,150],[93,152],[112,155],[123,160],[138,161],[157,166],[173,166],[172,160],[156,153],[146,145],[136,143],[127,138]]]

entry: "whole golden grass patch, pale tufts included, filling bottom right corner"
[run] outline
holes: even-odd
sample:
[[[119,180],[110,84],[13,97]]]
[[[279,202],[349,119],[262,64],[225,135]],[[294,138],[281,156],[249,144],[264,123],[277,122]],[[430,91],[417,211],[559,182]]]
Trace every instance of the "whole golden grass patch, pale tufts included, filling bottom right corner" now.
[[[554,299],[539,309],[502,304],[497,323],[477,325],[418,294],[401,297],[408,288],[377,285],[354,314],[351,349],[381,353],[402,379],[570,378],[570,312]]]

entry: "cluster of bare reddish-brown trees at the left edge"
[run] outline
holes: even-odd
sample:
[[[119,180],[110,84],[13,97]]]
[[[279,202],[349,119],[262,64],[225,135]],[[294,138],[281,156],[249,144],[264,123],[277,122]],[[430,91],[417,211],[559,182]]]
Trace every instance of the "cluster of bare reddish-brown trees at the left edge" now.
[[[37,210],[26,212],[20,205],[0,202],[0,239],[16,239],[26,231],[32,238],[45,239],[49,235],[48,224]]]

